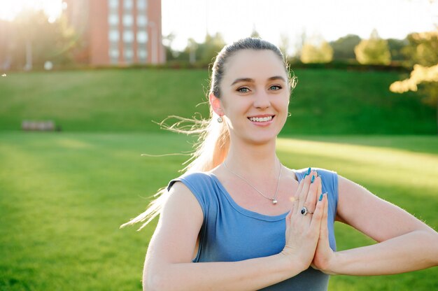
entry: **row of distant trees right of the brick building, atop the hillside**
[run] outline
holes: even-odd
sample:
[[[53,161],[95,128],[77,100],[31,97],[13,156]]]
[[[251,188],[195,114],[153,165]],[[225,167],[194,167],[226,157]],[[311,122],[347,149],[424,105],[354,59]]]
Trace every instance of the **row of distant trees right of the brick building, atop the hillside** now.
[[[281,35],[278,47],[290,62],[304,64],[328,63],[332,61],[358,62],[359,64],[390,65],[399,64],[410,66],[414,48],[417,45],[414,34],[409,34],[404,39],[379,36],[376,29],[369,38],[362,39],[355,34],[348,34],[336,41],[325,41],[320,36],[300,36],[295,44],[295,52],[290,54],[290,40],[285,34]],[[257,31],[250,35],[260,37]],[[226,44],[220,33],[206,35],[203,43],[197,43],[193,38],[188,39],[185,49],[178,51],[172,49],[175,34],[163,37],[164,47],[169,62],[190,62],[209,64],[217,52]]]

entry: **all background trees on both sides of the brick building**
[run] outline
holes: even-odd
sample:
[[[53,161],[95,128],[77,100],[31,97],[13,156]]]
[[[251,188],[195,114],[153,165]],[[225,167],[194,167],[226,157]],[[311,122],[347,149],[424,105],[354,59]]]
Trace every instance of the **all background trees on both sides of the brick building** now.
[[[401,40],[383,39],[374,30],[367,39],[348,34],[327,42],[321,36],[309,37],[303,33],[293,48],[289,37],[282,34],[277,45],[290,62],[304,64],[344,61],[380,65],[435,65],[434,56],[438,51],[434,47],[437,43],[436,31],[423,34],[426,36],[421,41],[418,40],[418,34],[409,34]],[[260,37],[255,30],[250,36]],[[167,62],[170,63],[211,64],[213,57],[226,44],[220,33],[207,34],[201,43],[189,38],[186,47],[178,51],[172,49],[174,38],[174,34],[163,36]],[[83,45],[83,39],[63,17],[49,22],[43,11],[25,10],[13,22],[0,21],[0,69],[3,70],[32,69],[32,66],[40,69],[47,62],[57,67],[73,66],[80,57],[83,59],[78,55],[78,52],[83,52]],[[419,54],[418,48],[428,50]]]

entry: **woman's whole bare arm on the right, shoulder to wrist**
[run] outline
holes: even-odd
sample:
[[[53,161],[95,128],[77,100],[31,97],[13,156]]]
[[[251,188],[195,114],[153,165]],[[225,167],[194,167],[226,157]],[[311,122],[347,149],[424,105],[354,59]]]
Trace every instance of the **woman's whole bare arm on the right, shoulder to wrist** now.
[[[413,215],[341,176],[337,215],[338,220],[378,243],[337,253],[330,253],[327,247],[321,246],[316,253],[318,260],[313,264],[328,274],[400,274],[438,265],[437,232]]]

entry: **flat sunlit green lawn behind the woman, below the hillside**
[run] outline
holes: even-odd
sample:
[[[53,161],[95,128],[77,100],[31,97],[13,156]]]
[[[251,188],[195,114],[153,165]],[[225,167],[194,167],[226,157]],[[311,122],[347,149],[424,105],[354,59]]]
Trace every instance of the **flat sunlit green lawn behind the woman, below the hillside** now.
[[[155,223],[119,225],[178,175],[190,149],[167,133],[0,132],[0,290],[141,290]],[[283,137],[289,167],[319,166],[365,185],[438,228],[438,138]],[[372,243],[336,225],[339,250]],[[334,276],[330,290],[434,290],[437,268],[396,276]]]

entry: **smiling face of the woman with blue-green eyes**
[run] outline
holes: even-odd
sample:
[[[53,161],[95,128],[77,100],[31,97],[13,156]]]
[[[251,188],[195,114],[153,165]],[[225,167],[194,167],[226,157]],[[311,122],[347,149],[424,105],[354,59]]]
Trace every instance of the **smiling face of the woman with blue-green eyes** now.
[[[220,107],[232,140],[275,141],[288,117],[290,89],[282,60],[271,50],[241,50],[225,63]]]

